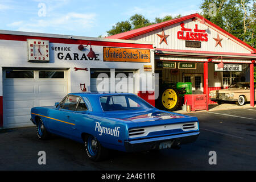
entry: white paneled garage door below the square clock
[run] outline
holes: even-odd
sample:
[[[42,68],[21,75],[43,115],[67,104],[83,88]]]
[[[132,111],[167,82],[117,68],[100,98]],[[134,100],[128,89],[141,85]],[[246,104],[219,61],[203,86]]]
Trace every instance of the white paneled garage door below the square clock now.
[[[68,93],[67,71],[3,71],[3,127],[32,126],[30,109],[52,106]]]

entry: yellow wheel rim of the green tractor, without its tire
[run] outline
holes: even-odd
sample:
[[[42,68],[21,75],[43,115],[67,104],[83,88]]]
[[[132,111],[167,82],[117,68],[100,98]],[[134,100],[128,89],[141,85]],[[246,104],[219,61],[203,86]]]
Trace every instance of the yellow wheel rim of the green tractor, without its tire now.
[[[177,94],[173,89],[166,89],[162,94],[162,104],[167,109],[172,109],[177,104]]]

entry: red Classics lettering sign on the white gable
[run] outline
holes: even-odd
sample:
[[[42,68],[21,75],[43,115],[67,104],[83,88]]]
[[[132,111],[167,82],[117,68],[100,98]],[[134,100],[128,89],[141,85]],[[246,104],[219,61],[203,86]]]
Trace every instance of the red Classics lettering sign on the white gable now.
[[[181,31],[177,32],[177,39],[180,40],[195,40],[195,41],[208,41],[208,34],[205,30],[200,30],[195,24],[195,28],[185,28],[184,23],[180,23]]]

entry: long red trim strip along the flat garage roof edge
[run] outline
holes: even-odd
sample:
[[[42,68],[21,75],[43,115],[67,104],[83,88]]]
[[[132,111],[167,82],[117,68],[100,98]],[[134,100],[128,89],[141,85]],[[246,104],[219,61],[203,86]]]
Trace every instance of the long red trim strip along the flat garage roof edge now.
[[[26,36],[26,35],[10,35],[10,34],[0,34],[0,39],[17,40],[17,41],[27,41],[27,39],[40,39],[40,40],[49,40],[49,42],[51,43],[61,43],[61,44],[87,44],[88,42],[90,42],[92,46],[131,47],[131,48],[147,48],[147,49],[153,48],[152,44],[103,42],[103,41],[95,41],[95,40],[48,38],[43,36]]]

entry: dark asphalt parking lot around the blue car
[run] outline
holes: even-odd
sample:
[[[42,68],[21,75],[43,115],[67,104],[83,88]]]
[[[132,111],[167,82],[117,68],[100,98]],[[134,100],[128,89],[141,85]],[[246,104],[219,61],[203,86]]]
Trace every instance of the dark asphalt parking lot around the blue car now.
[[[0,130],[0,170],[256,170],[256,108],[189,113],[200,135],[180,150],[113,151],[102,162],[86,158],[84,146],[52,136],[40,141],[36,128]],[[39,165],[39,151],[46,164]],[[209,164],[213,152],[216,164]]]

